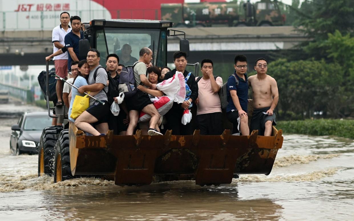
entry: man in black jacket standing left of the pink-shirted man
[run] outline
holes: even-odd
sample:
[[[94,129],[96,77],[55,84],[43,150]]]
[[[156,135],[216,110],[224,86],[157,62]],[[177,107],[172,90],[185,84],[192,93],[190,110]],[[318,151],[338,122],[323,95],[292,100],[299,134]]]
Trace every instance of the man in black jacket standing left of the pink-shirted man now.
[[[173,54],[173,62],[176,69],[165,74],[164,80],[167,80],[176,74],[176,71],[182,72],[185,78],[186,97],[182,104],[173,102],[172,108],[167,112],[167,129],[172,130],[173,135],[192,135],[193,127],[191,123],[182,124],[182,116],[184,110],[192,107],[193,102],[198,98],[198,84],[195,82],[195,77],[192,72],[185,70],[187,66],[187,53],[177,51]]]

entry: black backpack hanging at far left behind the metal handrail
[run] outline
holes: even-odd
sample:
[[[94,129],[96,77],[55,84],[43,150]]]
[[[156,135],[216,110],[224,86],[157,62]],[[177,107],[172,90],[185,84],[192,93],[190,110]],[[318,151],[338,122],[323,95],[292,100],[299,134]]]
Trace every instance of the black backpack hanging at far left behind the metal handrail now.
[[[53,76],[52,76],[53,75]],[[57,85],[57,80],[55,79],[55,68],[52,68],[51,70],[49,70],[49,101],[56,101],[57,98],[57,92],[56,92],[56,85]],[[39,73],[38,75],[38,83],[39,86],[41,87],[42,93],[44,94],[44,99],[47,100],[47,96],[46,96],[46,90],[47,90],[47,86],[46,86],[46,77],[47,77],[47,72],[46,71],[42,71]]]

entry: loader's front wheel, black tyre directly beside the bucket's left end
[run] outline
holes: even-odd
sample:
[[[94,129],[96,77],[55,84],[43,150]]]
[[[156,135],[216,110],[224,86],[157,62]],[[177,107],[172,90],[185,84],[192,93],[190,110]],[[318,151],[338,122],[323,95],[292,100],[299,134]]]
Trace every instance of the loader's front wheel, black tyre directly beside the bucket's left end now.
[[[70,168],[69,130],[59,134],[54,159],[54,182],[73,179]]]

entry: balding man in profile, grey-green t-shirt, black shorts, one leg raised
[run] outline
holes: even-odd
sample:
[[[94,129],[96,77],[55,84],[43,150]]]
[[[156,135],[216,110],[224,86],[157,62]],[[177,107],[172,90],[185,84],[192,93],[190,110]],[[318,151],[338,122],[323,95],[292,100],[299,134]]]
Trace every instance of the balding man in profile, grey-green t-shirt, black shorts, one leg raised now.
[[[153,59],[153,52],[148,47],[143,47],[139,52],[139,60],[133,65],[133,73],[135,83],[133,85],[134,90],[136,91],[132,97],[125,99],[128,110],[129,110],[129,126],[127,129],[127,135],[133,135],[134,130],[137,126],[139,120],[140,111],[145,112],[151,116],[150,125],[148,130],[148,135],[162,135],[158,130],[155,129],[156,124],[160,120],[160,114],[156,110],[152,101],[149,98],[149,95],[140,90],[136,90],[137,85],[143,85],[144,87],[150,89],[156,89],[156,84],[149,82],[146,77],[146,64],[149,64]],[[123,70],[121,71],[122,75]],[[126,82],[127,83],[127,82]],[[131,82],[132,83],[132,82]],[[129,82],[128,82],[129,85]]]

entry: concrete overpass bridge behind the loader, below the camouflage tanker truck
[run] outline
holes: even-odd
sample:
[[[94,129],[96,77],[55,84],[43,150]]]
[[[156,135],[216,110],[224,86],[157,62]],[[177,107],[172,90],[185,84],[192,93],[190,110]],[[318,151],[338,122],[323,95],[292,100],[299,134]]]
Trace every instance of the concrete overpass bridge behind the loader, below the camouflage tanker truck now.
[[[278,27],[200,27],[176,28],[185,31],[190,42],[190,57],[198,62],[230,62],[237,53],[252,57],[269,57],[272,51],[291,50],[307,37],[292,26]],[[42,65],[53,51],[52,31],[0,32],[0,65]],[[179,49],[179,38],[169,37],[168,56]],[[169,62],[171,61],[168,59]],[[189,59],[190,61],[191,59]]]

